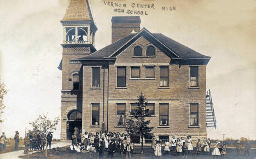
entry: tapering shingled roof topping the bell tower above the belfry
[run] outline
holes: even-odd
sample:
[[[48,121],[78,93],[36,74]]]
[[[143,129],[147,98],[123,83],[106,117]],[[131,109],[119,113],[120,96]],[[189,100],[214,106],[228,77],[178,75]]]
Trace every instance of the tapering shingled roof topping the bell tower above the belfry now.
[[[88,0],[71,0],[61,21],[94,21]]]

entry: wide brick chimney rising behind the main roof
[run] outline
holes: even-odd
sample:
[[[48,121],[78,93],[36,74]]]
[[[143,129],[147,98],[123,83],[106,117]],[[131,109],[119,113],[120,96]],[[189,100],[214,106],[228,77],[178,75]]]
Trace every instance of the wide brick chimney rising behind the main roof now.
[[[129,35],[133,30],[141,30],[139,16],[113,16],[112,17],[112,43]]]

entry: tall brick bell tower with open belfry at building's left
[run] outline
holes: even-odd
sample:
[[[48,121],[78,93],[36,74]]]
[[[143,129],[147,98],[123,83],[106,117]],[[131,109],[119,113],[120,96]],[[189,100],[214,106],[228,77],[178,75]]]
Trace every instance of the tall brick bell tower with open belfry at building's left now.
[[[83,67],[78,58],[96,51],[94,44],[97,27],[88,0],[71,0],[61,23],[61,140],[68,140],[71,139],[74,127],[82,128],[82,117],[78,117],[78,114],[82,114]]]

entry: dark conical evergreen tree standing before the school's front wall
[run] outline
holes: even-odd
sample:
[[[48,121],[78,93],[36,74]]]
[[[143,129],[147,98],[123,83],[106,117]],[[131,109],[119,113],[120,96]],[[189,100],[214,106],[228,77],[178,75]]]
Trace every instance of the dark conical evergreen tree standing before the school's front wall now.
[[[126,120],[126,132],[130,136],[141,138],[141,154],[143,154],[143,139],[153,135],[153,133],[150,133],[153,127],[149,127],[150,120],[146,120],[146,117],[149,117],[150,114],[148,114],[149,110],[146,109],[148,102],[145,102],[145,96],[141,92],[141,95],[137,98],[137,107],[134,112],[130,112],[130,117]]]

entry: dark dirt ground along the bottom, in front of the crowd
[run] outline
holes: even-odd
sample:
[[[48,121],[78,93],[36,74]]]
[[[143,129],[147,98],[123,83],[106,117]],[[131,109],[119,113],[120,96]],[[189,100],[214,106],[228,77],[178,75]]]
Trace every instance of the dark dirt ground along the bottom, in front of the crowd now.
[[[149,147],[144,148],[144,154],[140,154],[140,148],[139,147],[135,147],[135,151],[132,153],[131,158],[136,158],[136,159],[150,159],[150,158],[156,158],[153,156],[153,150],[150,149]],[[225,157],[219,157],[219,158],[254,158],[256,157],[256,150],[252,149],[250,152],[250,156],[243,156],[245,153],[245,149],[241,150],[241,155],[240,157],[236,156],[236,149],[227,149],[227,155]],[[106,158],[107,154],[105,154]],[[25,159],[30,159],[30,158],[46,158],[45,157],[45,152],[36,152],[34,154],[30,154],[30,155],[26,155],[26,156],[19,156],[20,158],[25,158]],[[69,150],[69,146],[65,147],[65,148],[55,148],[52,149],[50,151],[48,151],[48,157],[47,158],[51,158],[51,159],[61,159],[61,158],[75,158],[75,159],[79,159],[79,158],[98,158],[98,153],[77,153],[74,151]],[[120,158],[118,153],[114,154],[114,158]],[[125,157],[124,157],[125,158]],[[172,154],[172,152],[170,152],[168,155],[165,155],[164,152],[162,152],[162,159],[165,158],[182,158],[182,156],[178,156],[177,154]],[[185,158],[185,157],[184,157]],[[200,155],[196,155],[194,152],[188,155],[188,158],[213,158],[212,156],[208,156],[206,154],[200,154]]]

